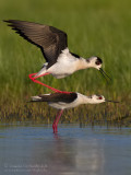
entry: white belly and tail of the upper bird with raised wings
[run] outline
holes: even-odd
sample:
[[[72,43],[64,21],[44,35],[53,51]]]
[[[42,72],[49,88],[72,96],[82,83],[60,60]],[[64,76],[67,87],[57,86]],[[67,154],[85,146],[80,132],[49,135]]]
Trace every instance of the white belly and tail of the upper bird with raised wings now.
[[[35,75],[38,77],[44,73],[51,73],[57,79],[64,78],[76,71],[79,59],[69,52],[69,49],[62,50],[58,60],[49,69],[47,69],[48,62],[44,63],[43,69]]]

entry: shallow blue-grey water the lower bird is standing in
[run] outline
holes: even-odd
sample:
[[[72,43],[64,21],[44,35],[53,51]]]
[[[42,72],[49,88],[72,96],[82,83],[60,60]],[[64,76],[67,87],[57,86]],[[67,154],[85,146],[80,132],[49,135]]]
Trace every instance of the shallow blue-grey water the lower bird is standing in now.
[[[131,129],[0,125],[2,175],[131,175]]]

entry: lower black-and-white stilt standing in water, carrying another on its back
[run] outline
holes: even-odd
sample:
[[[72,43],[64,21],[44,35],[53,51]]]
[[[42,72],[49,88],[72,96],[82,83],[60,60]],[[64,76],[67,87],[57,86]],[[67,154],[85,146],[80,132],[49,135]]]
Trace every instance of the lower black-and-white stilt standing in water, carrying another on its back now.
[[[85,96],[81,93],[53,93],[53,94],[44,94],[38,96],[32,96],[32,101],[29,102],[47,102],[49,106],[59,109],[57,117],[52,124],[53,132],[57,132],[57,125],[60,119],[60,116],[66,108],[76,107],[81,104],[99,104],[104,102],[112,102],[107,101],[103,95],[92,95]]]

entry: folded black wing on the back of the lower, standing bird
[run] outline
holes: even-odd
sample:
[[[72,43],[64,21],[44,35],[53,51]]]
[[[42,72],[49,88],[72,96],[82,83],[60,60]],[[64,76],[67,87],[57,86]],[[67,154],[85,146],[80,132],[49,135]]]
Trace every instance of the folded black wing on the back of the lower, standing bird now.
[[[78,94],[76,93],[70,93],[70,94],[64,94],[64,93],[53,93],[50,95],[38,95],[41,97],[41,100],[38,100],[40,102],[64,102],[64,103],[71,103],[74,100],[76,100]]]

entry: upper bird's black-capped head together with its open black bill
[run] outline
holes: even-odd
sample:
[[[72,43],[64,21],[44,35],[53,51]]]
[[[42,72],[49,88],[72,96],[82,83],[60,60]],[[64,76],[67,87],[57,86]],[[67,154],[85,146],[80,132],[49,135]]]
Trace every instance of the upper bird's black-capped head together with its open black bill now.
[[[94,56],[94,57],[91,57],[91,58],[86,59],[86,61],[87,61],[87,63],[88,63],[88,66],[90,66],[91,68],[95,68],[95,69],[99,70],[100,73],[103,74],[103,77],[104,77],[107,81],[108,81],[108,79],[111,80],[111,79],[109,78],[109,75],[103,70],[103,68],[102,68],[103,60],[102,60],[99,57]]]

